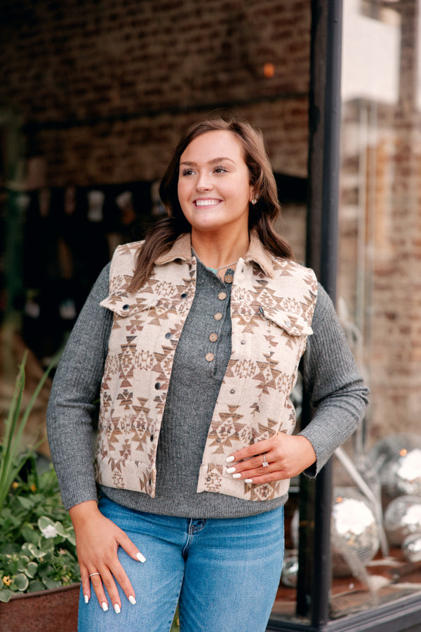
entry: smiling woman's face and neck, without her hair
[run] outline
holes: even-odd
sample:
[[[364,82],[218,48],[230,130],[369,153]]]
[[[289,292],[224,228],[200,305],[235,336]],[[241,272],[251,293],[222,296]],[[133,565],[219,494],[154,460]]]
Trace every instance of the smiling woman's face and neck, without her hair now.
[[[255,194],[243,146],[234,134],[210,131],[192,140],[180,157],[178,199],[203,263],[225,270],[228,261],[246,254],[248,209]]]

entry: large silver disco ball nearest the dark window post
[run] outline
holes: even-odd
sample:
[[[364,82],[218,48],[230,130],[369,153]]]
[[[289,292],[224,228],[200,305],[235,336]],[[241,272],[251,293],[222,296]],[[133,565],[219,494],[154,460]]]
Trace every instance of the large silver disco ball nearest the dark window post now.
[[[332,569],[335,577],[359,574],[380,547],[370,502],[354,487],[336,487],[332,507]]]

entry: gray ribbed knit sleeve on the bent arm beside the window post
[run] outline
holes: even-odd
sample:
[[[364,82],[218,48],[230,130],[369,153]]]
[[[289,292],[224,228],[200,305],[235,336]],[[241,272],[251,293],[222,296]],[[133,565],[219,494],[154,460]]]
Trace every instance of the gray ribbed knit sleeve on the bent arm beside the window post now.
[[[302,357],[302,378],[315,412],[300,435],[312,442],[317,461],[305,473],[315,476],[337,447],[359,425],[368,403],[368,388],[354,362],[335,308],[319,285],[312,321]]]

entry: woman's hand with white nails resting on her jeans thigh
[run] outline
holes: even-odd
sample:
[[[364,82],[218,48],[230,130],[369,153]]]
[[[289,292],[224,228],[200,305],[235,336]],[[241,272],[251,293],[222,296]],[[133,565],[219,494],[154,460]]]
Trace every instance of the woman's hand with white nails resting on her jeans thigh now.
[[[100,513],[95,501],[75,505],[69,511],[76,534],[76,548],[81,568],[82,589],[85,602],[91,598],[91,582],[102,610],[108,610],[105,588],[112,600],[114,610],[119,613],[121,600],[116,581],[120,584],[130,603],[135,604],[135,591],[121,566],[117,549],[133,558],[145,562],[145,558],[131,539],[114,522]],[[91,575],[91,577],[89,577]]]

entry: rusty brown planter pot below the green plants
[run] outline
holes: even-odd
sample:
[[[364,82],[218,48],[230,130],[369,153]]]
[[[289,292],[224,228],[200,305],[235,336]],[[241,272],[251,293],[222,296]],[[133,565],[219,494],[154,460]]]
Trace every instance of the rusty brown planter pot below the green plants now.
[[[72,584],[0,603],[1,632],[76,632],[79,589]]]

